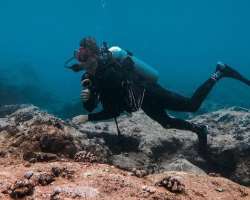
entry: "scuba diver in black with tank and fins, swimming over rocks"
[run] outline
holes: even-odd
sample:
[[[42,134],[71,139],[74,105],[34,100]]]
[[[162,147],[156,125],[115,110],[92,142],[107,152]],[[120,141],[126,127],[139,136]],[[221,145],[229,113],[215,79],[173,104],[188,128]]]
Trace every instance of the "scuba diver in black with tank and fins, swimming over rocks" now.
[[[250,80],[230,66],[218,63],[215,72],[193,96],[185,97],[160,86],[157,83],[157,72],[129,51],[120,47],[108,48],[106,43],[99,47],[92,37],[81,40],[75,58],[79,63],[69,68],[75,72],[86,71],[81,81],[81,99],[90,114],[74,117],[74,124],[112,118],[116,120],[123,112],[132,113],[142,109],[146,115],[166,129],[195,132],[199,141],[198,150],[204,154],[207,150],[207,126],[173,118],[165,110],[196,112],[222,78],[233,78],[250,86]],[[99,102],[103,109],[91,113]]]

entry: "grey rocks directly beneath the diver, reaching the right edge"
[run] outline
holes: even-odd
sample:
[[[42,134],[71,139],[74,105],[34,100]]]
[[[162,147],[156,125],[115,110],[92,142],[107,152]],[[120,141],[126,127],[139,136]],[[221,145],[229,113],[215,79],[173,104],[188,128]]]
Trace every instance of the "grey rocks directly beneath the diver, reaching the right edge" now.
[[[102,138],[112,152],[111,162],[120,168],[149,173],[178,170],[203,174],[216,172],[250,185],[250,112],[232,107],[191,120],[207,124],[208,157],[197,153],[197,136],[189,131],[163,129],[142,112],[121,117],[117,137],[114,122],[82,125],[89,137]]]

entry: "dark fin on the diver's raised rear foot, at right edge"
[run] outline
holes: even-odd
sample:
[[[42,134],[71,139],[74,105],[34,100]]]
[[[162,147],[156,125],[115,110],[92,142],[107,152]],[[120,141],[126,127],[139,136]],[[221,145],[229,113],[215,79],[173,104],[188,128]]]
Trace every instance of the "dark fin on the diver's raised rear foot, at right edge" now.
[[[222,62],[217,63],[216,74],[219,74],[220,78],[222,77],[233,78],[250,86],[250,80],[242,76],[239,72],[237,72],[232,67]]]

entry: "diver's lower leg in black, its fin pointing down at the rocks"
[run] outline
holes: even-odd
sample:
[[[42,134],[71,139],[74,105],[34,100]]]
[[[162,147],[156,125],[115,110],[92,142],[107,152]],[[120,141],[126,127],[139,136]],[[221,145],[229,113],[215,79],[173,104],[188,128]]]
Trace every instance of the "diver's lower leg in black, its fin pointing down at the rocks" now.
[[[158,122],[164,128],[175,128],[180,130],[189,130],[195,132],[199,139],[199,150],[205,153],[207,149],[207,127],[197,125],[182,119],[170,117],[159,104],[143,104],[143,111],[154,121]]]

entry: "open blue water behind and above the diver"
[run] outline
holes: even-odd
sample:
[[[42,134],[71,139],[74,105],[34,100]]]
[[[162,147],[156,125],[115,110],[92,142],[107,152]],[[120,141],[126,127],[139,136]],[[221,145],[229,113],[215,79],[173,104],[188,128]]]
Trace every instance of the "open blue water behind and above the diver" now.
[[[119,45],[184,95],[228,63],[250,78],[247,0],[12,0],[0,2],[0,104],[32,103],[60,116],[78,111],[80,75],[64,62],[84,36]],[[209,109],[250,108],[249,88],[218,83]],[[77,107],[78,106],[78,107]]]

